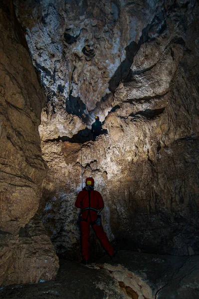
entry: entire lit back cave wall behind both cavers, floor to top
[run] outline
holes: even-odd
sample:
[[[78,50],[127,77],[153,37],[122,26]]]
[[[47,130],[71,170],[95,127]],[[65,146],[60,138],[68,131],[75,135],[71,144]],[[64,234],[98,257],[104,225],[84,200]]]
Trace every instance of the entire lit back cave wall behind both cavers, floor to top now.
[[[82,144],[119,248],[198,254],[198,2],[29,4],[15,0],[48,97],[42,214],[56,251],[79,250]],[[107,130],[95,142],[94,114]]]

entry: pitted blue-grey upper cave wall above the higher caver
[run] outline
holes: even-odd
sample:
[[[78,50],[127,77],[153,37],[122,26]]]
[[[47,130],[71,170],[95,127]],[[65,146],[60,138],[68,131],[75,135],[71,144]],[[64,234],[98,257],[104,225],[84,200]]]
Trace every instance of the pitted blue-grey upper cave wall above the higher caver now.
[[[34,7],[31,2],[14,1],[47,93],[45,125],[60,137],[70,137],[74,126],[67,122],[64,132],[59,125],[68,113],[79,116],[87,126],[94,113],[100,112],[104,120],[111,109],[112,92],[128,74],[161,1],[41,0]],[[73,116],[72,123],[76,122]]]

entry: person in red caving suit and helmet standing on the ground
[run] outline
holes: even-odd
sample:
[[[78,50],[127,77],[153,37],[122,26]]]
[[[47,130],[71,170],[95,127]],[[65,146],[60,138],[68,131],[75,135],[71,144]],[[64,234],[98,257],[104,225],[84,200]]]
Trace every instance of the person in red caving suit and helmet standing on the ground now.
[[[104,207],[102,196],[98,191],[94,190],[94,179],[92,177],[87,177],[85,183],[86,186],[77,195],[75,206],[81,209],[80,231],[83,258],[82,263],[87,265],[90,257],[90,225],[94,229],[98,239],[109,256],[113,257],[115,253],[97,214],[98,210],[103,209]]]

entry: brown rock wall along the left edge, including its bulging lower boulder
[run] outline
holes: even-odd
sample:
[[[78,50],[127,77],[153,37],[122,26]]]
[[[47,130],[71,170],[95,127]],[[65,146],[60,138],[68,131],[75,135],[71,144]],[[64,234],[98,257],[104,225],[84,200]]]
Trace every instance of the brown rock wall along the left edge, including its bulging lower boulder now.
[[[47,172],[38,133],[45,96],[11,1],[0,2],[0,32],[1,285],[52,278],[58,260],[44,229],[30,220]],[[19,229],[26,224],[28,236],[22,238]]]

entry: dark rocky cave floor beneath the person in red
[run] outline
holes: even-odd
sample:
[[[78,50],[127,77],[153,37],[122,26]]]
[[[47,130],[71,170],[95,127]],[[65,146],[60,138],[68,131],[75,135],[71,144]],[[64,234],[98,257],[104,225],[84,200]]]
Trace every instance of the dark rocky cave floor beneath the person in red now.
[[[0,288],[1,299],[199,299],[199,256],[120,250],[84,266],[60,260],[54,281]]]

